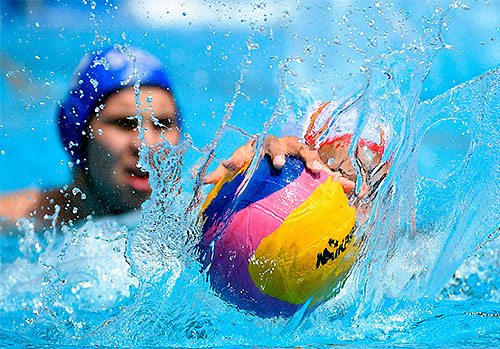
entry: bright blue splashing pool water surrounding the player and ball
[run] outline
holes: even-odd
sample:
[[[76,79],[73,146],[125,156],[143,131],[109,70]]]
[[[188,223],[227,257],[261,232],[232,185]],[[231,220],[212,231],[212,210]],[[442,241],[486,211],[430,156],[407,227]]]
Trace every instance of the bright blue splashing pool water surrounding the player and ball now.
[[[91,34],[42,12],[17,25],[2,18],[2,66],[14,68],[1,81],[0,190],[69,180],[53,111],[99,40],[165,60],[189,137],[163,145],[166,161],[143,157],[153,195],[142,212],[62,233],[35,232],[28,220],[2,227],[1,346],[500,346],[496,4],[287,3],[239,30],[189,15],[198,27],[165,30],[157,18],[160,27],[130,29],[120,22],[127,4],[46,9],[84,13]],[[356,134],[388,125],[392,167],[356,230],[363,249],[344,286],[287,319],[225,302],[198,261],[209,188],[193,173],[249,137],[299,133],[317,100],[352,96]]]

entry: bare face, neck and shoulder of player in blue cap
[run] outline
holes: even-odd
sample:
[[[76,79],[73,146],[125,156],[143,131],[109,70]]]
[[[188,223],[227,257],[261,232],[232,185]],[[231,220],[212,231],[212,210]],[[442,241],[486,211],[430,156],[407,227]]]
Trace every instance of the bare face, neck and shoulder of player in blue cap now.
[[[160,142],[176,144],[180,139],[172,95],[158,87],[143,86],[140,90],[138,105],[134,90],[125,88],[108,97],[102,110],[91,118],[84,141],[86,169],[75,168],[70,185],[4,195],[0,197],[0,217],[7,223],[32,217],[40,227],[51,223],[46,216],[56,210],[57,222],[67,223],[139,208],[151,188],[148,174],[137,167],[141,146],[138,112],[144,145],[151,151]]]

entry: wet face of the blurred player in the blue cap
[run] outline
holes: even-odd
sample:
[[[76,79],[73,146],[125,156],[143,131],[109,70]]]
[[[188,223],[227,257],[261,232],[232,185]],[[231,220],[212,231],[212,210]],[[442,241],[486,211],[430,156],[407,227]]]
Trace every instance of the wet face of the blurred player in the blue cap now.
[[[148,174],[137,167],[141,140],[137,110],[142,116],[144,141],[151,147],[180,139],[172,95],[159,87],[141,87],[140,104],[132,88],[111,95],[90,121],[88,175],[97,195],[112,211],[137,208],[151,194]]]

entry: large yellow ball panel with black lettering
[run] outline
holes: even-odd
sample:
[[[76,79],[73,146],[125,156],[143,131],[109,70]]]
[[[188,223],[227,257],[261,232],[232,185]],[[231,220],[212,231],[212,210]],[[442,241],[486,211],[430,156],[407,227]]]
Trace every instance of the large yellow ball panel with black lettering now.
[[[252,280],[292,304],[326,296],[356,260],[355,222],[342,186],[328,178],[261,241],[248,266]]]

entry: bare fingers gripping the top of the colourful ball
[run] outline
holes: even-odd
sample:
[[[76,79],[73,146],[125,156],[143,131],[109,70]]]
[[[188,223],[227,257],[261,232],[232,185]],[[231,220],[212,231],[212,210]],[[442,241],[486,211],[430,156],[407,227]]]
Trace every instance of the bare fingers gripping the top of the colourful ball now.
[[[229,159],[222,161],[219,167],[205,178],[205,184],[220,181],[228,172],[238,172],[252,159],[255,152],[254,143],[249,141],[244,146],[236,149]],[[313,173],[318,173],[324,168],[318,152],[299,142],[297,137],[277,138],[268,136],[264,140],[264,152],[271,157],[273,165],[277,169],[281,169],[285,165],[286,155],[298,157],[304,161],[306,167]]]

